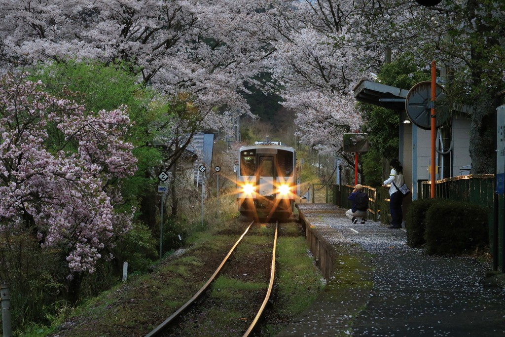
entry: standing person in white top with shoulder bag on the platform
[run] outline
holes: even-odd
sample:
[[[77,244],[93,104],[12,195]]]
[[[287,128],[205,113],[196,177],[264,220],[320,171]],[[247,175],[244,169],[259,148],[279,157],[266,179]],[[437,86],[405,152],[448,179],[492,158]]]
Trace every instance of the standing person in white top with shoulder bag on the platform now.
[[[403,201],[403,194],[396,188],[405,183],[403,178],[403,166],[401,166],[398,159],[392,159],[389,162],[391,172],[389,178],[384,180],[384,185],[391,184],[389,187],[389,210],[391,212],[391,225],[387,228],[401,228],[403,222],[403,213],[401,211],[401,203]]]

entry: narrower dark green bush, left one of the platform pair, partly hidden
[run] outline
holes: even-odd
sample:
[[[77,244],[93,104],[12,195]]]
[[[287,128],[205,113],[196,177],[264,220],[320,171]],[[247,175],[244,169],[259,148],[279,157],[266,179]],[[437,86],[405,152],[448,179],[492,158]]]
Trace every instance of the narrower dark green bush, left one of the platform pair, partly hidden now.
[[[426,243],[424,232],[426,227],[426,212],[438,199],[418,199],[409,206],[405,227],[407,229],[407,245],[421,247]]]

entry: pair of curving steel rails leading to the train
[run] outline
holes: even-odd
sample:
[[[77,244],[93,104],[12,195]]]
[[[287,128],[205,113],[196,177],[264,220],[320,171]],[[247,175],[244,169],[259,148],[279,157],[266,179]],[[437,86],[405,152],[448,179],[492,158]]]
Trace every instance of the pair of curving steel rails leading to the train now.
[[[181,306],[176,312],[174,312],[170,317],[168,317],[163,323],[158,325],[155,329],[150,331],[148,334],[145,335],[145,337],[154,337],[154,336],[166,336],[166,335],[174,335],[171,334],[169,331],[173,328],[175,325],[175,322],[178,322],[181,319],[181,316],[187,312],[190,308],[194,308],[195,306],[198,306],[196,304],[196,301],[200,298],[203,297],[203,295],[207,292],[208,288],[210,285],[216,280],[216,277],[218,274],[220,274],[225,267],[225,265],[230,261],[230,257],[232,256],[232,253],[235,251],[237,246],[242,242],[242,239],[244,236],[246,236],[247,232],[251,228],[251,226],[255,222],[252,221],[245,231],[242,233],[242,235],[237,239],[233,247],[230,249],[228,254],[225,256],[221,264],[218,266],[218,268],[214,271],[212,276],[207,280],[207,282],[195,293],[195,295],[187,301],[183,306]],[[247,329],[245,332],[243,332],[243,337],[249,336],[252,334],[252,331],[254,331],[255,327],[258,325],[260,317],[263,314],[263,311],[266,308],[266,305],[268,303],[268,300],[270,298],[270,295],[272,293],[273,285],[274,285],[274,277],[275,277],[275,250],[276,250],[276,243],[277,243],[277,233],[278,233],[278,223],[275,224],[275,233],[274,233],[274,238],[273,238],[273,245],[271,246],[271,263],[270,263],[270,277],[268,280],[268,288],[266,291],[266,294],[264,296],[262,304],[259,306],[259,308],[255,309],[256,314],[250,313],[250,317],[254,316],[254,319],[252,319],[251,323],[248,325]],[[242,262],[243,264],[246,263],[246,261]],[[252,309],[251,309],[252,310]],[[246,318],[243,318],[243,320],[248,320]],[[176,334],[177,335],[177,334]]]

